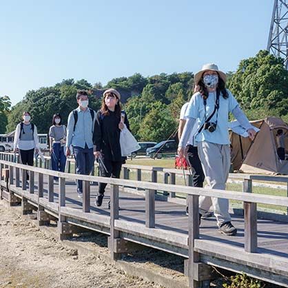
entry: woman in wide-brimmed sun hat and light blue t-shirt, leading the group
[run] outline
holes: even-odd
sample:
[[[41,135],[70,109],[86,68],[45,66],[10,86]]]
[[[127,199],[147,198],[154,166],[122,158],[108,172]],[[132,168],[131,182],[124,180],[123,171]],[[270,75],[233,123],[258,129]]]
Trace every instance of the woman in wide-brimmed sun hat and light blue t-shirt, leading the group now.
[[[199,85],[187,107],[187,121],[178,145],[178,154],[185,156],[185,147],[194,124],[197,123],[198,155],[207,181],[207,187],[225,190],[230,167],[228,114],[232,114],[248,132],[251,139],[256,132],[240,109],[232,93],[225,88],[226,74],[215,64],[205,64],[195,74]],[[231,223],[229,200],[226,198],[199,197],[200,214],[213,205],[218,229],[226,235],[236,235]]]

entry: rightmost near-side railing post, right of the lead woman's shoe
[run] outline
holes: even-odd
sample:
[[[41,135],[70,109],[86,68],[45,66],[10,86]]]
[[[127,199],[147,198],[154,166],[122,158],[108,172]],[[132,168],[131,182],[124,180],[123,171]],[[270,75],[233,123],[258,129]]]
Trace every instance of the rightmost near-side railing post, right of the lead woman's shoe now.
[[[245,251],[257,251],[257,204],[244,202]]]

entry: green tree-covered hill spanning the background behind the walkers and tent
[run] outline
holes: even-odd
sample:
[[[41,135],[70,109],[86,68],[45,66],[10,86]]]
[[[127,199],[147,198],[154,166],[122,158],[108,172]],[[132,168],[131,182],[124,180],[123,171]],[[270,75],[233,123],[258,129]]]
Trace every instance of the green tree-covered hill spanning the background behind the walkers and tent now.
[[[227,74],[227,88],[236,96],[250,120],[280,116],[288,122],[288,72],[282,59],[263,50],[240,61],[236,72]],[[76,90],[88,90],[90,107],[98,110],[103,90],[116,88],[121,92],[136,138],[139,141],[161,141],[176,130],[181,106],[192,95],[193,85],[192,72],[147,77],[136,73],[112,79],[105,86],[101,83],[92,85],[85,79],[66,79],[52,87],[28,91],[11,109],[9,98],[1,97],[0,132],[5,132],[5,127],[7,132],[14,130],[23,111],[28,110],[39,132],[48,133],[54,113],[60,113],[66,123],[68,114],[76,107]]]

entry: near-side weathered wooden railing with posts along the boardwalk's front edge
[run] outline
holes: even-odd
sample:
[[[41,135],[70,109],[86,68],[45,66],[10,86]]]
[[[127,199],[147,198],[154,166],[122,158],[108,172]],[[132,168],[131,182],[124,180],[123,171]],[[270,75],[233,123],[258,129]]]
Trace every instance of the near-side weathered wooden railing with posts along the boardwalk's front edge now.
[[[187,241],[187,249],[189,251],[189,285],[190,287],[196,287],[196,282],[194,280],[194,265],[199,263],[200,254],[195,251],[194,243],[195,240],[199,238],[199,210],[198,210],[198,199],[199,196],[212,196],[217,198],[228,198],[231,200],[240,200],[243,201],[244,207],[244,218],[245,218],[245,245],[244,250],[249,253],[254,253],[257,251],[257,214],[256,214],[256,205],[257,203],[268,204],[268,205],[279,205],[288,207],[288,198],[280,196],[268,196],[268,195],[259,195],[251,194],[244,192],[233,192],[233,191],[223,191],[218,189],[205,189],[197,187],[185,187],[183,185],[174,185],[174,184],[159,184],[153,182],[144,182],[144,181],[131,181],[126,179],[116,179],[116,178],[104,178],[98,176],[84,176],[79,174],[71,173],[62,173],[54,172],[49,169],[43,169],[39,167],[30,167],[27,165],[21,165],[19,163],[13,163],[13,159],[8,156],[8,161],[0,160],[0,175],[1,175],[1,185],[4,179],[2,177],[2,170],[6,167],[9,169],[9,193],[14,194],[13,187],[19,188],[19,193],[22,195],[23,202],[27,198],[34,198],[35,202],[39,203],[38,210],[39,212],[43,211],[43,207],[46,205],[43,200],[43,189],[44,189],[44,176],[48,176],[48,203],[51,203],[56,207],[56,210],[59,211],[58,221],[60,234],[65,234],[65,218],[63,214],[63,209],[66,205],[65,198],[65,182],[67,180],[82,180],[83,181],[83,217],[88,217],[90,214],[90,183],[91,182],[102,182],[109,183],[111,185],[111,211],[110,211],[110,250],[111,256],[114,259],[119,258],[119,253],[116,251],[116,243],[120,238],[120,232],[122,224],[125,223],[125,220],[119,220],[119,187],[128,186],[134,188],[140,188],[145,191],[145,227],[149,229],[150,234],[155,234],[157,236],[159,229],[155,230],[155,193],[157,190],[164,190],[169,194],[182,193],[187,195],[187,203],[189,207],[189,225],[187,231],[189,232],[189,241]],[[139,168],[136,168],[139,169]],[[146,169],[146,168],[145,168]],[[149,169],[149,168],[147,168]],[[155,170],[153,170],[155,171]],[[21,172],[21,173],[20,173]],[[27,191],[26,186],[26,172],[29,172],[30,183],[29,190]],[[38,174],[38,188],[37,195],[34,195],[34,176]],[[14,175],[15,175],[15,184],[14,184]],[[59,177],[59,203],[54,202],[54,177]],[[21,181],[20,181],[21,178]],[[252,179],[255,176],[249,176],[248,179],[245,179],[247,187],[250,189]],[[265,178],[265,177],[264,177]],[[263,178],[263,179],[264,179]],[[259,178],[257,178],[259,179]],[[267,178],[265,178],[267,179]],[[285,180],[284,178],[281,181]],[[274,181],[274,178],[273,178]],[[247,188],[247,190],[249,190]],[[36,197],[36,198],[35,198]],[[44,206],[43,206],[44,205]],[[48,204],[47,204],[48,205]],[[55,206],[56,205],[56,206]],[[67,211],[65,212],[67,215]],[[122,223],[122,224],[121,224]],[[131,225],[130,233],[133,234],[133,225]],[[127,227],[125,228],[127,229]],[[173,232],[169,232],[169,235],[172,236]],[[169,237],[168,237],[169,240]],[[183,245],[183,243],[178,243],[178,245]]]

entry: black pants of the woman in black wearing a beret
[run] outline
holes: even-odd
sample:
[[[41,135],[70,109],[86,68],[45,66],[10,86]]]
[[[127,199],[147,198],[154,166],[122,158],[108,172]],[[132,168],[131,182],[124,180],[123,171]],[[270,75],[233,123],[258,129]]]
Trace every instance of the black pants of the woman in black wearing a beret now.
[[[113,178],[120,178],[122,161],[111,161],[110,159],[105,158],[105,156],[102,157],[102,161],[99,161],[100,176],[112,176]],[[107,171],[105,168],[107,169]],[[106,186],[107,183],[99,183],[99,194],[104,194]]]

